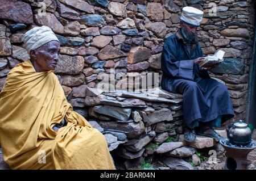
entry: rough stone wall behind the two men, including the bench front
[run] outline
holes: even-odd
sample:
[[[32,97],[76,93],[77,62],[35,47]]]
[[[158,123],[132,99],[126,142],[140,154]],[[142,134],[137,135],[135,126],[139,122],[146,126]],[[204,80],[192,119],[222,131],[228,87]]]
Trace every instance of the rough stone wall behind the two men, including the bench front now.
[[[148,89],[141,83],[143,79],[154,79],[147,84],[149,87],[158,85],[163,43],[177,31],[184,6],[205,12],[198,28],[204,55],[217,49],[226,52],[225,61],[210,75],[228,86],[236,112],[234,120],[245,119],[254,37],[254,2],[250,0],[1,0],[0,90],[10,69],[28,59],[22,43],[24,33],[35,26],[49,26],[61,42],[55,73],[74,110],[104,127],[98,129],[108,134],[111,148],[125,144],[128,137],[131,141],[126,142],[126,149],[117,151],[119,155],[140,157],[151,141],[161,143],[182,132],[182,106],[175,99],[178,95],[166,96],[165,92],[163,98],[168,98],[167,102],[158,103],[154,96],[144,98],[148,94],[136,97],[127,92],[104,93],[93,88],[112,76],[112,85],[119,90],[129,85],[136,87],[136,83]],[[159,73],[160,77],[151,77],[150,73]],[[117,113],[111,115],[112,106],[121,117],[116,117]],[[158,123],[156,118],[161,116]],[[98,126],[96,122],[90,123]],[[141,129],[135,129],[137,126]],[[120,132],[115,132],[116,129]]]

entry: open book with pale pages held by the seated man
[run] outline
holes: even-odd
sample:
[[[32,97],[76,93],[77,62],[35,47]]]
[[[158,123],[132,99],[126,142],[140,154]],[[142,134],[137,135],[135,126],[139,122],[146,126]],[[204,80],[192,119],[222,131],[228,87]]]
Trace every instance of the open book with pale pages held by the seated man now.
[[[208,68],[214,64],[218,64],[218,62],[222,62],[224,54],[224,51],[218,50],[214,55],[208,55],[205,57],[204,61],[199,64],[200,68]]]

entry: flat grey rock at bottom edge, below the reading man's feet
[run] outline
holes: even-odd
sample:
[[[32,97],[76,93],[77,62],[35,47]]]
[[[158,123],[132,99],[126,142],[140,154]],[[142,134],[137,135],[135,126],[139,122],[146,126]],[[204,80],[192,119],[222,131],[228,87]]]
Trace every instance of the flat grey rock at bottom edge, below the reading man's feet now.
[[[162,161],[172,170],[193,170],[190,163],[180,158],[163,157]]]

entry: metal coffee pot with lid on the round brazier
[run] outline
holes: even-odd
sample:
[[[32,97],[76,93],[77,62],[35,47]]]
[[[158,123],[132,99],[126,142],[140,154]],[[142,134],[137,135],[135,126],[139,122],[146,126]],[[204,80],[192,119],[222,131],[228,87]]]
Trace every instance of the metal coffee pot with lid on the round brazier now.
[[[242,120],[229,124],[226,132],[230,144],[245,146],[251,143],[251,129]]]

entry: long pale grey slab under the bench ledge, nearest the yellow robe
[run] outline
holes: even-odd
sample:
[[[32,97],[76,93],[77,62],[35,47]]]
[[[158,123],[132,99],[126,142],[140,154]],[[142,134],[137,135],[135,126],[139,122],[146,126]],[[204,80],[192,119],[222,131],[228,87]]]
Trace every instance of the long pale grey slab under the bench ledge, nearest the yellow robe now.
[[[96,106],[93,108],[95,112],[101,113],[102,115],[107,115],[114,117],[115,119],[121,121],[127,121],[131,115],[130,108],[119,108],[113,106]]]

